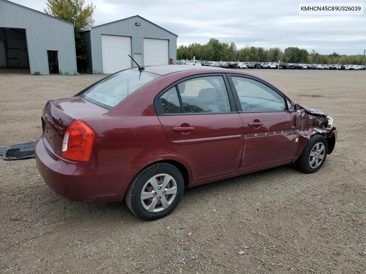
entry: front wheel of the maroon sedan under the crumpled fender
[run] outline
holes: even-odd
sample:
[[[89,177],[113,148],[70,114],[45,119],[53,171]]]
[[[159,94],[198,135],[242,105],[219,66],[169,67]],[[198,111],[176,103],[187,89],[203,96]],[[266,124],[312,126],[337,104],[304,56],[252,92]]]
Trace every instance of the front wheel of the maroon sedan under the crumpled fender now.
[[[328,153],[326,138],[315,134],[311,136],[300,157],[295,161],[295,167],[304,173],[318,171],[325,162]]]

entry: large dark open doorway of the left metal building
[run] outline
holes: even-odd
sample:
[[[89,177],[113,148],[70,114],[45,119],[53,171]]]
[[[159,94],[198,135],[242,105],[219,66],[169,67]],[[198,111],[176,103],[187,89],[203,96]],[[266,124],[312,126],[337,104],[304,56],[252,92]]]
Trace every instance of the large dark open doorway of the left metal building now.
[[[24,28],[0,28],[0,68],[29,69]]]

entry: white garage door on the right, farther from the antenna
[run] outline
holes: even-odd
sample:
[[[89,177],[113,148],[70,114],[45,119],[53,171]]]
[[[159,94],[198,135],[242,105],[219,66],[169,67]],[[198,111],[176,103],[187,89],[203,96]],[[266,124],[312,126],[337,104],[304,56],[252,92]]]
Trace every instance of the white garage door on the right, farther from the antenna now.
[[[143,38],[143,65],[168,65],[169,40]]]

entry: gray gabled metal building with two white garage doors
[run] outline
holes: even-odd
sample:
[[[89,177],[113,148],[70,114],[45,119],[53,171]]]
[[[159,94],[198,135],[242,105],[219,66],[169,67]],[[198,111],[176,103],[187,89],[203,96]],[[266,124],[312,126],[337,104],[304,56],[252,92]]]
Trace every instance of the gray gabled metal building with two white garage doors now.
[[[81,30],[93,73],[114,73],[139,65],[175,64],[178,35],[142,18],[132,16]]]

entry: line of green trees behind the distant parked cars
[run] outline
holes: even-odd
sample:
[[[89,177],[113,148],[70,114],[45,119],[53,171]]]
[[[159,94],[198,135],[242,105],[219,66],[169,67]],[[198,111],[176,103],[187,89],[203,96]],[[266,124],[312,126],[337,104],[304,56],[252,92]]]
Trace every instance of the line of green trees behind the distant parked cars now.
[[[264,49],[263,47],[246,46],[237,49],[235,43],[221,43],[218,39],[211,38],[204,45],[192,43],[188,46],[177,48],[177,59],[210,61],[240,61],[240,62],[281,62],[305,64],[352,64],[361,65],[363,56],[339,55],[333,52],[329,55],[319,54],[315,50],[309,53],[306,49],[287,47],[282,51],[279,47]]]

